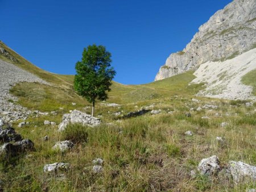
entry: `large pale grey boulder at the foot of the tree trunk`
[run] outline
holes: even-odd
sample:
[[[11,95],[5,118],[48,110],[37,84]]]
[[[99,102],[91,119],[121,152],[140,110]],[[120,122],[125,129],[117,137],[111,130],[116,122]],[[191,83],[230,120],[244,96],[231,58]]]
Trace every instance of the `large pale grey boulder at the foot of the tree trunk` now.
[[[85,126],[98,126],[101,124],[101,120],[94,118],[84,112],[73,110],[70,114],[64,114],[62,122],[59,124],[59,131],[65,130],[69,123],[82,123]]]

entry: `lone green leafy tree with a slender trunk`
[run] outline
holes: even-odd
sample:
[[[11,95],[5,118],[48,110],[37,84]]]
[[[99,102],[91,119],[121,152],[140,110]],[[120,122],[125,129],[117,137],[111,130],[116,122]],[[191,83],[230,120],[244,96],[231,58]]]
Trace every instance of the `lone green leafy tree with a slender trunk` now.
[[[92,116],[96,99],[108,99],[106,91],[111,90],[110,85],[115,76],[111,62],[111,53],[104,46],[93,44],[84,48],[82,60],[76,63],[74,87],[79,95],[92,103]]]

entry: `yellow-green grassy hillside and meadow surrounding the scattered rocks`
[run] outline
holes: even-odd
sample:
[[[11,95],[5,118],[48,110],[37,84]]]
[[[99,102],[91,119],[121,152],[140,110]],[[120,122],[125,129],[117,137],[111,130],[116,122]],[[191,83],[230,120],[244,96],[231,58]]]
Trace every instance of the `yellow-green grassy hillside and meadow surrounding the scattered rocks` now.
[[[11,54],[16,58],[16,53]],[[32,65],[20,62],[22,59],[15,65]],[[13,123],[18,133],[34,141],[35,151],[0,163],[5,191],[245,191],[256,187],[255,183],[234,185],[223,174],[190,175],[202,158],[212,155],[220,158],[222,167],[230,160],[256,165],[255,103],[246,107],[246,101],[211,98],[196,98],[200,101],[194,102],[193,95],[202,85],[188,86],[195,78],[193,72],[137,86],[113,82],[107,102],[121,106],[108,107],[97,102],[96,116],[102,120],[101,126],[76,124],[58,132],[57,126],[44,125],[44,120],[59,124],[69,110],[90,113],[91,107],[74,93],[73,76],[51,74],[32,66],[32,73],[53,84],[56,80],[56,86],[22,83],[14,86],[11,93],[23,106],[56,111],[56,115],[31,115],[26,119],[30,124],[22,128],[18,127],[19,122]],[[203,108],[204,105],[218,108]],[[199,106],[203,109],[197,111]],[[142,107],[162,112],[125,118],[128,112]],[[115,112],[121,115],[116,116]],[[191,117],[185,115],[188,112]],[[203,116],[209,119],[202,119]],[[222,122],[228,126],[221,127]],[[192,136],[184,134],[188,130]],[[46,135],[49,140],[43,141]],[[219,143],[217,136],[224,142]],[[71,151],[53,151],[57,141],[67,139],[75,143]],[[104,160],[102,173],[92,171],[95,158]],[[43,173],[43,166],[54,162],[71,164],[64,179]]]

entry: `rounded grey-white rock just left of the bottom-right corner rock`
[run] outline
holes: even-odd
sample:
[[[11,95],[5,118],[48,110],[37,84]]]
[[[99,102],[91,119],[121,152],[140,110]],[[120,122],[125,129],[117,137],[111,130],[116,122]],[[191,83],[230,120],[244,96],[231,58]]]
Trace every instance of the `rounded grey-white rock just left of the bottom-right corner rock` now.
[[[201,174],[216,174],[220,172],[220,161],[216,155],[209,158],[203,158],[200,161],[197,170],[199,170]]]

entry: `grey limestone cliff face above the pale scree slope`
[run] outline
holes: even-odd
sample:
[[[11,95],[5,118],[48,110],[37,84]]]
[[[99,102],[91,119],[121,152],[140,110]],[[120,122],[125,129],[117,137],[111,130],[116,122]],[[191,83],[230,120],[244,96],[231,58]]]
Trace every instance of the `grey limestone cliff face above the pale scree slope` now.
[[[234,0],[217,11],[181,52],[172,53],[155,81],[197,69],[207,61],[232,59],[256,47],[256,0]]]

